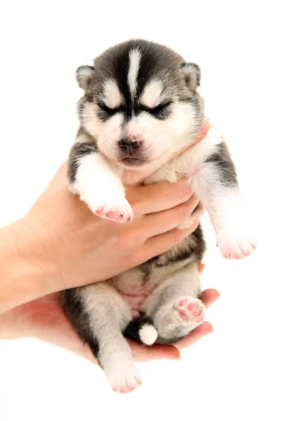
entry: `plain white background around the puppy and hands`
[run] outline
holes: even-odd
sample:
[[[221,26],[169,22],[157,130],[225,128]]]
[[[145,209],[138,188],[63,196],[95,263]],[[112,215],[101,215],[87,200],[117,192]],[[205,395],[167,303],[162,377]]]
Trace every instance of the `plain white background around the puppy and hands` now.
[[[228,140],[258,249],[209,253],[204,287],[221,298],[214,333],[181,363],[140,364],[119,396],[91,363],[37,340],[1,342],[0,418],[280,420],[280,13],[275,1],[3,1],[0,6],[0,225],[24,215],[77,129],[78,65],[119,41],[168,44],[202,68],[207,116]]]

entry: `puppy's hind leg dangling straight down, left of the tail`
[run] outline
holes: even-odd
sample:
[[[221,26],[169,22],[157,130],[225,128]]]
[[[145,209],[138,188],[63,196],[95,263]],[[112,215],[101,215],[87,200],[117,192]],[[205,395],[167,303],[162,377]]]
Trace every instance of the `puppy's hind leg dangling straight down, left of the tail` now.
[[[107,282],[66,291],[65,309],[77,333],[88,343],[115,392],[141,384],[122,330],[131,320],[129,306]]]

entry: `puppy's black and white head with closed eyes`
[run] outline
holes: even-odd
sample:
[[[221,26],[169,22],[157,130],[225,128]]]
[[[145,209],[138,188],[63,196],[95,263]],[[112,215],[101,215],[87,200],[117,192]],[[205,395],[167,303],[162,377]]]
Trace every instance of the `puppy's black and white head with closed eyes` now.
[[[79,119],[100,152],[138,168],[196,133],[203,114],[200,68],[170,48],[133,40],[77,69]]]

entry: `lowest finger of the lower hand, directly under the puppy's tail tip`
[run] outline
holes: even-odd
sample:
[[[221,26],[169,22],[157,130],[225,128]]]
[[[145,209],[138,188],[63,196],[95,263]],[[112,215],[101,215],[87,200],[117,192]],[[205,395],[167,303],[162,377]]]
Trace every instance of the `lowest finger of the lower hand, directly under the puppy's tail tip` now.
[[[129,339],[128,343],[131,347],[131,352],[135,361],[150,361],[159,359],[179,360],[181,358],[181,354],[178,349],[171,345],[152,345],[152,347],[146,347],[145,345]]]

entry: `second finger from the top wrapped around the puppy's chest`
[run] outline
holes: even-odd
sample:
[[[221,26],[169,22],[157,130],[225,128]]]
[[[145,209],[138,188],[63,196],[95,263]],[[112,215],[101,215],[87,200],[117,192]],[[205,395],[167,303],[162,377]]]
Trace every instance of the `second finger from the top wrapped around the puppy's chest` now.
[[[144,218],[145,225],[142,225],[142,232],[146,239],[171,231],[190,218],[193,210],[198,205],[198,199],[193,194],[188,201],[174,208],[163,210],[158,213],[150,213]],[[187,222],[188,223],[188,222]],[[190,221],[191,223],[191,221]]]

